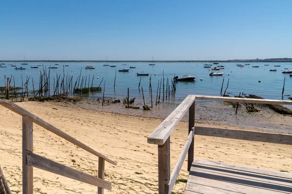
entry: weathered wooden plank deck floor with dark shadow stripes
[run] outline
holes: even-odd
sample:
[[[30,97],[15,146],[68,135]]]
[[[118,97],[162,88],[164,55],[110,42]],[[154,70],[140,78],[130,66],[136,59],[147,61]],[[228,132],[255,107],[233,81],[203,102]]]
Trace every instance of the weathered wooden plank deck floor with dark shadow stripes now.
[[[292,194],[292,174],[195,159],[184,194]]]

